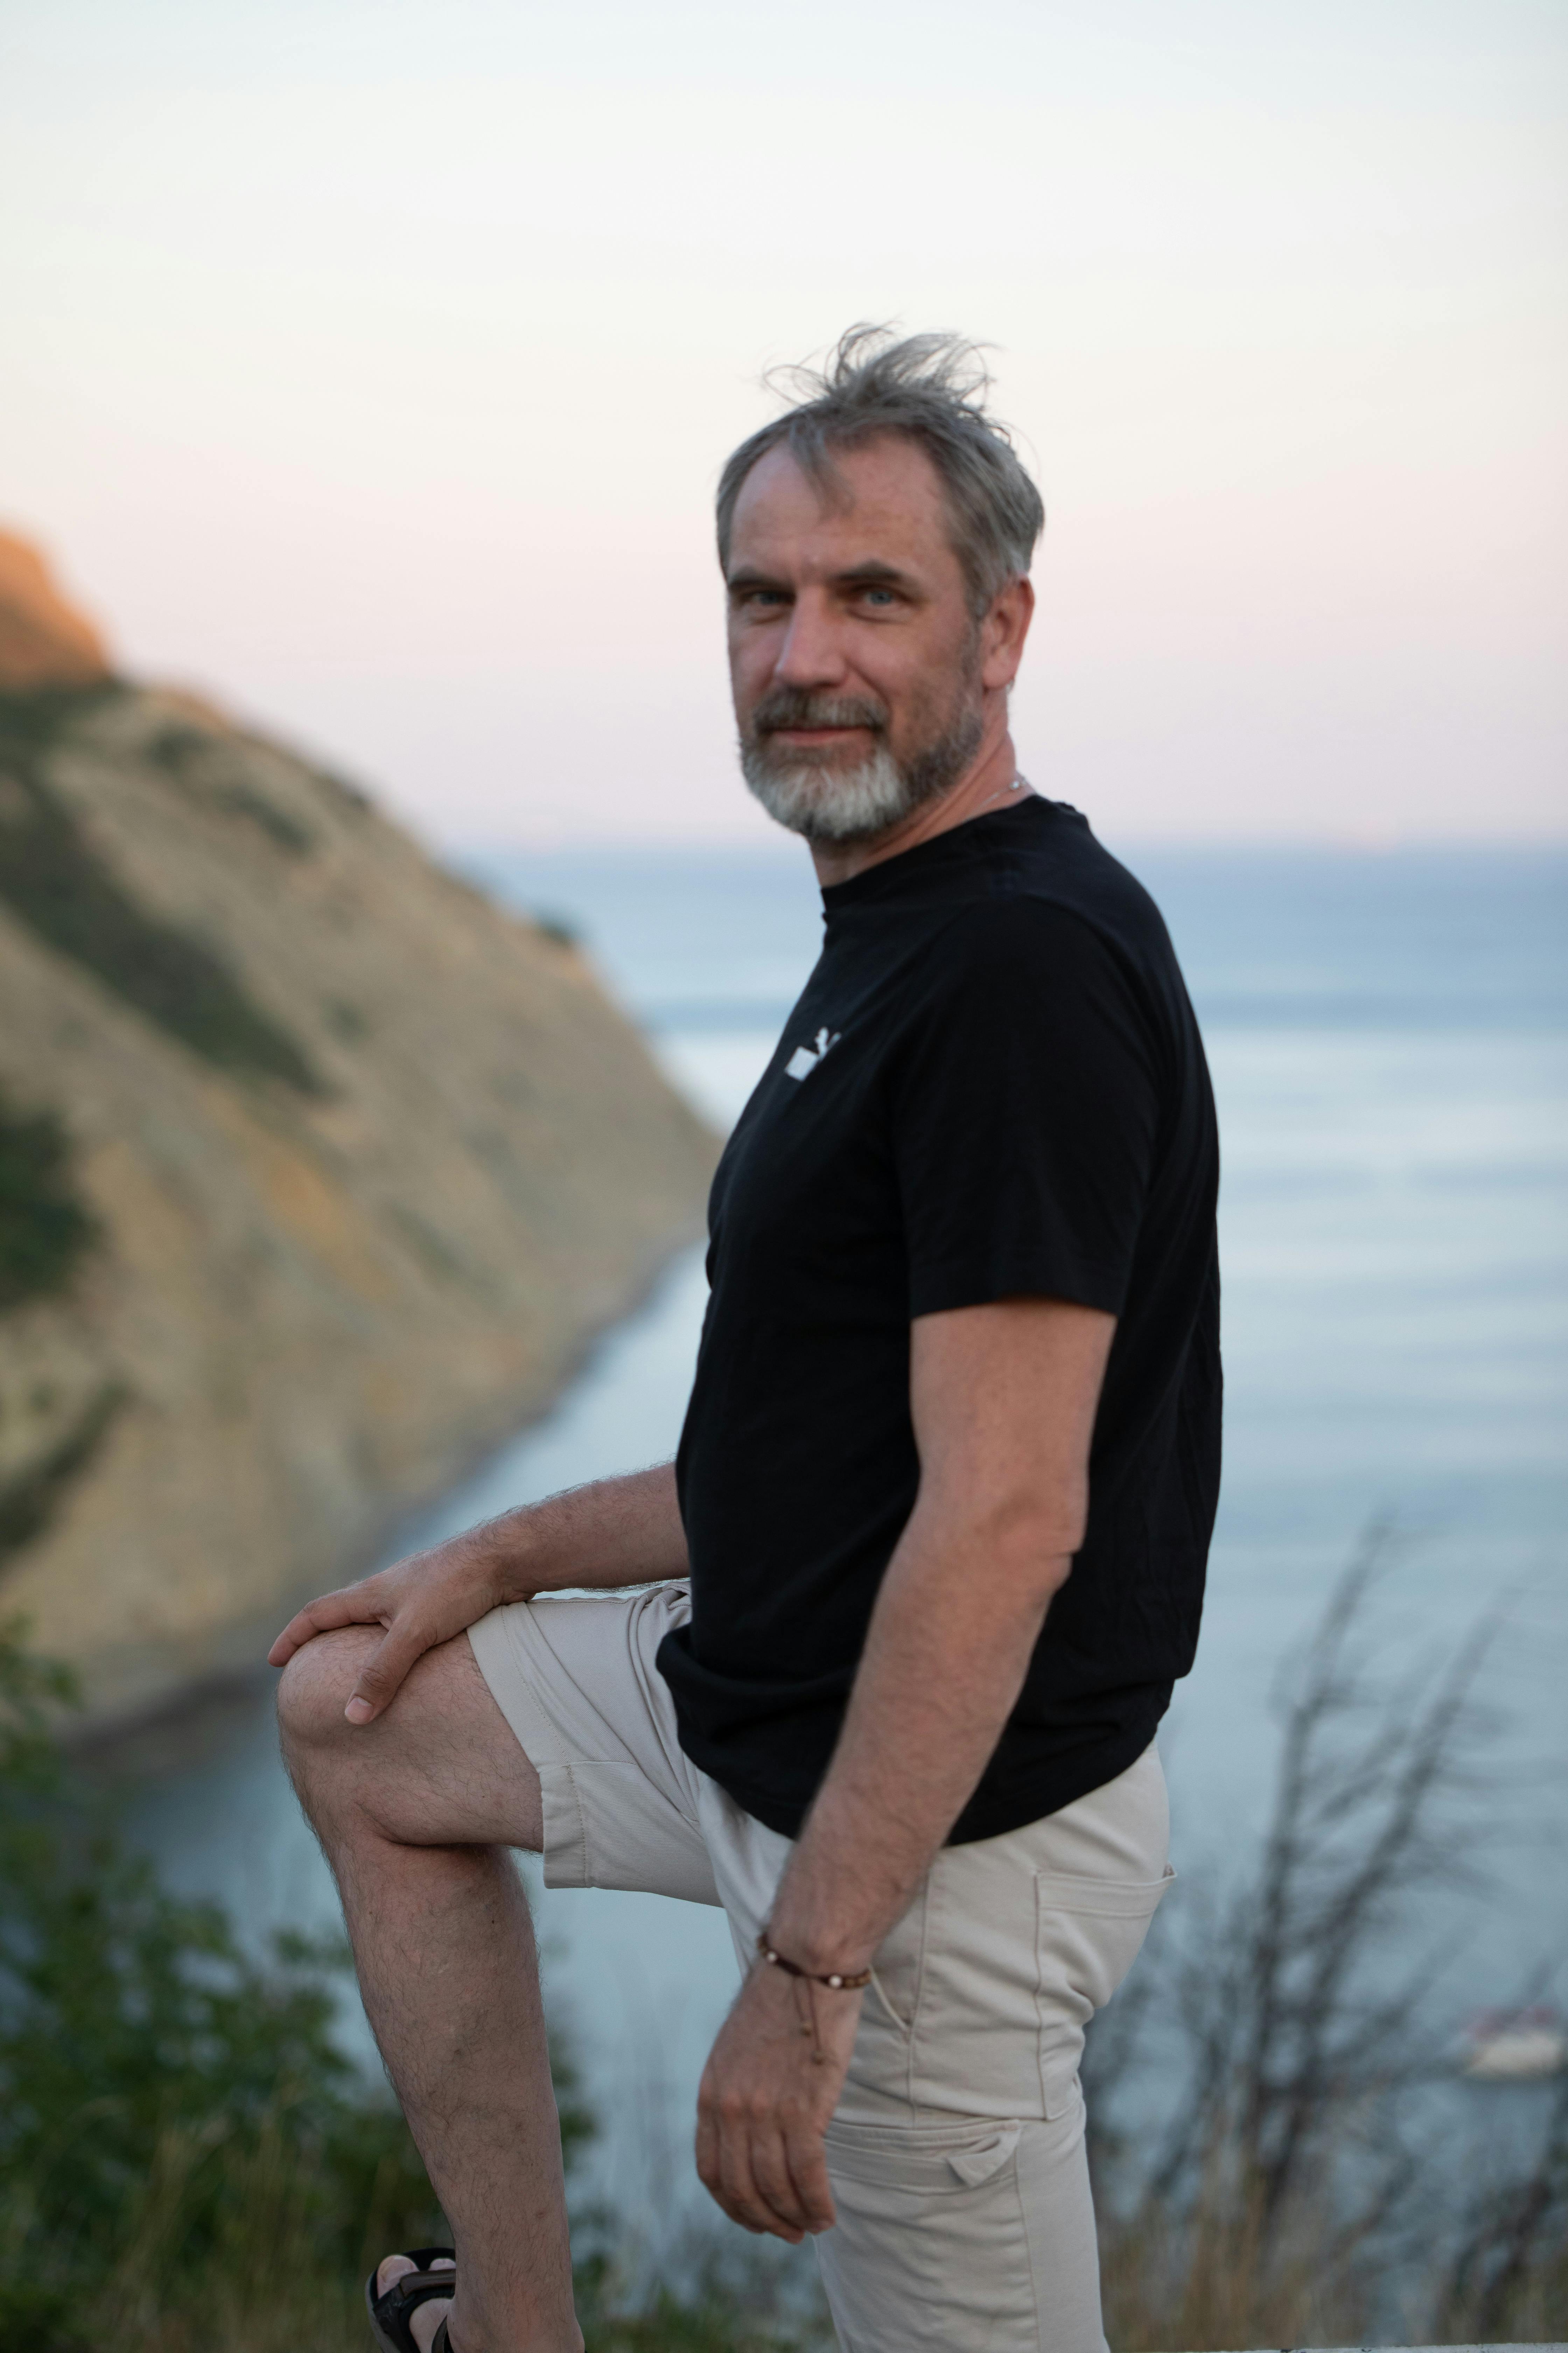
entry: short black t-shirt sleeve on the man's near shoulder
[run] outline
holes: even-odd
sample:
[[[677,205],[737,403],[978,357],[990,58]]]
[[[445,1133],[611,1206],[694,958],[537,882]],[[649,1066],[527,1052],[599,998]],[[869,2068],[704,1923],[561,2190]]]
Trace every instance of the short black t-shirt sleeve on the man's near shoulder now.
[[[966,908],[900,1056],[893,1162],[910,1315],[992,1299],[1121,1313],[1159,1134],[1126,958],[1067,908]]]

